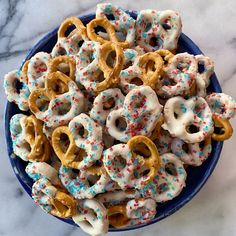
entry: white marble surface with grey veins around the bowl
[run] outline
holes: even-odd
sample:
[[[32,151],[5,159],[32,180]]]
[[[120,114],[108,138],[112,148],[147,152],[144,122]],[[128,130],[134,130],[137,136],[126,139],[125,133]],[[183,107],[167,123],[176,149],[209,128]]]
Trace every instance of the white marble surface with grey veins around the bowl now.
[[[63,18],[94,12],[97,0],[0,0],[0,77],[17,68],[27,50]],[[136,0],[116,2],[128,9],[175,9],[183,31],[215,61],[225,93],[236,97],[236,1]],[[46,215],[23,192],[11,169],[4,140],[6,98],[0,86],[2,155],[0,158],[0,235],[85,235]],[[236,127],[235,120],[232,122]],[[207,184],[185,207],[167,219],[136,231],[116,235],[228,236],[236,235],[236,135],[224,145],[220,161]],[[111,234],[109,234],[111,235]]]

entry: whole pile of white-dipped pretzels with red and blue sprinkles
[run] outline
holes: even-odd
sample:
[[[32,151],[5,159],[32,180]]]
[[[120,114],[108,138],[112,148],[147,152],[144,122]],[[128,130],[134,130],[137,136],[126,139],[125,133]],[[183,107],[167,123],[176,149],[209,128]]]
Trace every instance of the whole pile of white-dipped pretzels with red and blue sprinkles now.
[[[209,57],[175,54],[181,27],[171,10],[135,20],[98,4],[86,26],[67,18],[51,53],[5,76],[8,100],[29,111],[11,118],[13,151],[46,212],[91,235],[150,222],[184,188],[187,166],[230,138],[236,102],[207,91]]]

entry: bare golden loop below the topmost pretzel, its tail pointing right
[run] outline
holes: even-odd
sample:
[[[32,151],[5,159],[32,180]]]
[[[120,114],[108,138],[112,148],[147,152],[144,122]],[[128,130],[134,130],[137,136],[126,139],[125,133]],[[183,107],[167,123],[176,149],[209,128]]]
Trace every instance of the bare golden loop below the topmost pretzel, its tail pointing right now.
[[[99,36],[98,34],[96,34],[95,28],[98,26],[106,30],[109,36],[109,40],[106,40],[102,38],[101,36]],[[88,34],[88,37],[92,41],[99,42],[100,44],[113,42],[115,44],[118,44],[121,48],[128,48],[130,46],[130,43],[128,41],[119,42],[116,36],[115,28],[113,27],[113,25],[110,23],[110,21],[107,18],[96,18],[94,20],[91,20],[87,24],[87,34]]]

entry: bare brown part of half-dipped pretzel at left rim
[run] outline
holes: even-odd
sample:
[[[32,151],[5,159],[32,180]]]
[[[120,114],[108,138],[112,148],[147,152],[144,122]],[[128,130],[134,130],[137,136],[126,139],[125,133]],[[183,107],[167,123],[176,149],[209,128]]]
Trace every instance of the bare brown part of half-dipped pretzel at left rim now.
[[[42,123],[34,115],[23,117],[20,120],[23,136],[30,145],[28,160],[47,161],[50,155],[50,145],[43,134]]]

